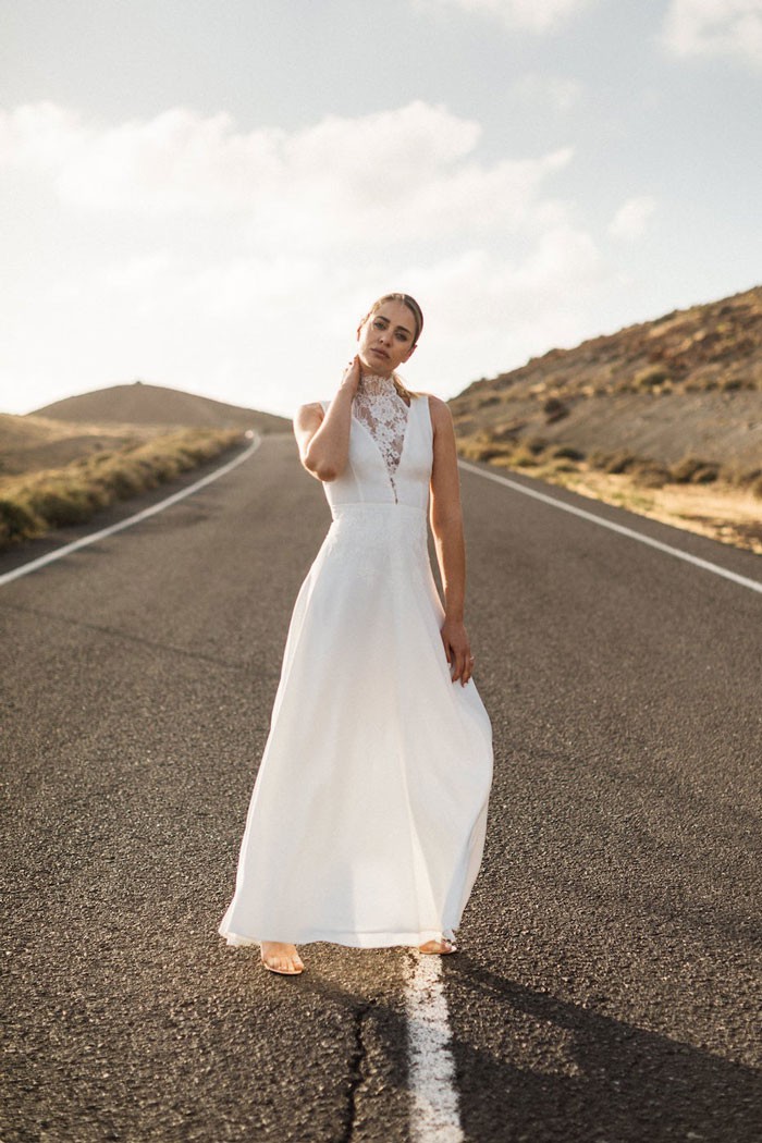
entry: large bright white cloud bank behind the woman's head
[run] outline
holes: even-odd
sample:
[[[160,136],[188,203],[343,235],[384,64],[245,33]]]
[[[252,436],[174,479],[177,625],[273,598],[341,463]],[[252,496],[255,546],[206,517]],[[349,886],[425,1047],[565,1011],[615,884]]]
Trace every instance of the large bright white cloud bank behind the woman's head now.
[[[182,109],[115,126],[51,104],[0,114],[19,217],[34,232],[35,203],[54,243],[6,273],[7,378],[25,408],[143,377],[289,413],[330,395],[390,289],[419,295],[409,379],[440,395],[573,341],[612,271],[548,193],[572,150],[488,163],[480,136],[422,102],[292,133]]]

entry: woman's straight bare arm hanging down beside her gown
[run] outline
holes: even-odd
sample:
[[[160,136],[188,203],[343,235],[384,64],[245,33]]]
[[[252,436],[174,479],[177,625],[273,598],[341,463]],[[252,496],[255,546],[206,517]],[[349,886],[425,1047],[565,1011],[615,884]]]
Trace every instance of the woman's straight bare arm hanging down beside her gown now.
[[[458,454],[452,415],[439,397],[427,397],[434,430],[434,463],[431,477],[430,520],[436,560],[444,589],[444,622],[441,628],[444,654],[452,681],[465,686],[473,663],[463,615],[466,594],[466,547],[463,538]]]

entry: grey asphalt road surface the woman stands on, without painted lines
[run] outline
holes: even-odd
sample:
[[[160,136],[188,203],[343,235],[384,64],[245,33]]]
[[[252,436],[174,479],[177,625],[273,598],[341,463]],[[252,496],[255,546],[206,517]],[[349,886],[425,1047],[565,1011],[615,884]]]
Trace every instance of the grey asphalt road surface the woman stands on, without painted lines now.
[[[462,485],[496,748],[443,960],[465,1137],[757,1143],[762,596]],[[762,578],[759,557],[553,495]],[[329,519],[266,438],[0,589],[5,1143],[410,1138],[410,954],[315,944],[283,980],[216,934]]]

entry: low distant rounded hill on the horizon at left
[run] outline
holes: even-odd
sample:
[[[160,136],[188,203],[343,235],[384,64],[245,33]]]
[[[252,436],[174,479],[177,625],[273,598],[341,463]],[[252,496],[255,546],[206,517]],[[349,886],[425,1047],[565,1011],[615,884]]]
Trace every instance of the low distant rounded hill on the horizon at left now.
[[[147,385],[142,381],[67,397],[63,401],[54,401],[53,405],[35,409],[30,415],[99,425],[254,429],[259,433],[291,431],[291,422],[286,417],[226,405],[224,401],[184,393],[177,389]]]

